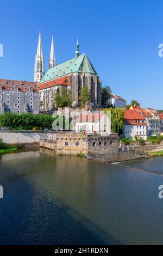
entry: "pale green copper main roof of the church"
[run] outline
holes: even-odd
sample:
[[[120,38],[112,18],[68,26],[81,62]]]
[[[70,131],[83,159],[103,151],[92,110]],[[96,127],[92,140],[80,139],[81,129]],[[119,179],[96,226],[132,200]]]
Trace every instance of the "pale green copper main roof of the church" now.
[[[54,66],[54,68],[48,69],[40,83],[44,83],[61,76],[66,76],[73,72],[91,73],[98,76],[89,58],[86,54],[82,54],[78,58],[68,60],[67,62]]]

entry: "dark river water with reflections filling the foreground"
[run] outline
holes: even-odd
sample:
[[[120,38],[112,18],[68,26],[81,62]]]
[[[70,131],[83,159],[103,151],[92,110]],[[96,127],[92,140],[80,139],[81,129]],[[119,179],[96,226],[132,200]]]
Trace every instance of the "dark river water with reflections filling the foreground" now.
[[[46,152],[0,157],[1,245],[163,244],[163,157],[109,164]]]

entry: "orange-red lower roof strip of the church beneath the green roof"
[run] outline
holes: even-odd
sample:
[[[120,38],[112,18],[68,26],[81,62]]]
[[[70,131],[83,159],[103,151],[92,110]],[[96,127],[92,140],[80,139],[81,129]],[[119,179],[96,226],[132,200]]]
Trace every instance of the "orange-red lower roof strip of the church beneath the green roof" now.
[[[46,88],[49,88],[49,87],[61,86],[61,85],[63,85],[63,86],[69,86],[70,85],[70,82],[68,81],[67,76],[56,78],[52,81],[47,81],[45,83],[37,84],[37,88],[39,90],[42,90],[42,89],[46,89]]]

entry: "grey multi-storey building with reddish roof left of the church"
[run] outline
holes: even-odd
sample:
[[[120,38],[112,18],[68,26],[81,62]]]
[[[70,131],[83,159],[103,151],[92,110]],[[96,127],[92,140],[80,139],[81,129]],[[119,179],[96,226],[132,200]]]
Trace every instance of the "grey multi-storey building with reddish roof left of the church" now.
[[[34,82],[0,79],[0,114],[39,113],[39,92]]]

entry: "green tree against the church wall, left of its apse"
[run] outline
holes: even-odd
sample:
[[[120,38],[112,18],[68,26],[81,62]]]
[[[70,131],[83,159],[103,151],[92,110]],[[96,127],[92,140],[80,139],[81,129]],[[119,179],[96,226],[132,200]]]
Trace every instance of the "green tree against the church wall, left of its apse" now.
[[[56,94],[54,102],[58,107],[69,107],[72,105],[71,92],[66,87],[61,87]]]

